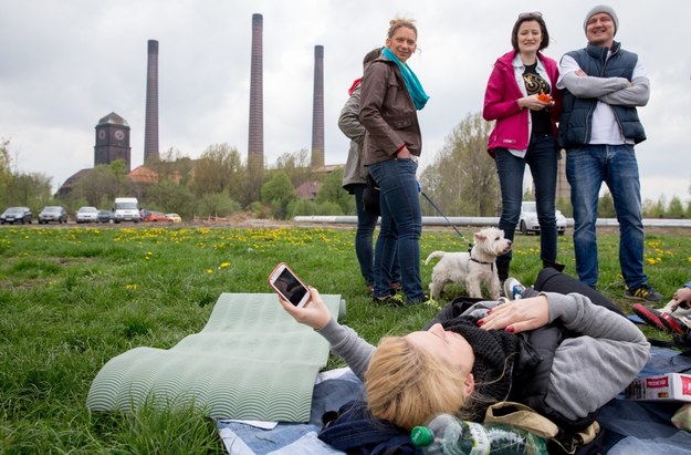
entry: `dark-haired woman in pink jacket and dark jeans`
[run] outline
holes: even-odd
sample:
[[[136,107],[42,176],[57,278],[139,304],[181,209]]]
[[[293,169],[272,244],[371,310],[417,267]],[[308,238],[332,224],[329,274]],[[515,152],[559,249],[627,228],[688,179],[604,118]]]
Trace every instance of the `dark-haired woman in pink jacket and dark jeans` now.
[[[558,146],[556,121],[561,93],[557,63],[541,51],[549,33],[540,12],[519,14],[511,32],[513,50],[494,63],[484,93],[482,116],[496,121],[488,152],[496,162],[502,190],[499,228],[513,241],[523,201],[523,174],[531,168],[540,223],[540,256],[545,267],[556,262],[555,193]],[[496,258],[500,281],[509,277],[511,252]]]

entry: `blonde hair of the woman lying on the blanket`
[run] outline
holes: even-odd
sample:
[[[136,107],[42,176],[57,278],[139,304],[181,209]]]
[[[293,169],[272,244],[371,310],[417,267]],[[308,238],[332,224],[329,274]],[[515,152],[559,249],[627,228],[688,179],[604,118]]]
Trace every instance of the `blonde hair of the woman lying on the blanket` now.
[[[467,400],[464,382],[460,369],[404,337],[387,337],[365,372],[367,407],[375,417],[409,431],[437,414],[459,414]]]

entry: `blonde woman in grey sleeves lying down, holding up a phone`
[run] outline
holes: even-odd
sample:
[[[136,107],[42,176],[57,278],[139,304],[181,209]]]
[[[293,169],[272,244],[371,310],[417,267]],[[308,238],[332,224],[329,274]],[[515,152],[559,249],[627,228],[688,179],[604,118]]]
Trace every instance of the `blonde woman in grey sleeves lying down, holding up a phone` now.
[[[364,380],[375,417],[409,431],[440,413],[482,422],[488,406],[513,401],[580,430],[636,378],[650,345],[591,288],[554,269],[537,282],[540,292],[524,292],[534,297],[447,307],[427,330],[386,337],[377,348],[336,322],[314,288],[305,307],[281,304]]]

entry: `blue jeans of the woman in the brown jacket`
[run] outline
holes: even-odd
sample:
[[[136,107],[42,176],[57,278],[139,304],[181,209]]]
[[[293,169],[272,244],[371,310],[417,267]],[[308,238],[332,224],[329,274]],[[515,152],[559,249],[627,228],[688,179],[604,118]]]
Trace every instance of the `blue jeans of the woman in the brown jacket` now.
[[[404,293],[409,302],[425,299],[420,280],[422,213],[412,159],[371,164],[369,174],[379,185],[381,229],[375,247],[375,296],[389,294],[391,267],[398,251]]]

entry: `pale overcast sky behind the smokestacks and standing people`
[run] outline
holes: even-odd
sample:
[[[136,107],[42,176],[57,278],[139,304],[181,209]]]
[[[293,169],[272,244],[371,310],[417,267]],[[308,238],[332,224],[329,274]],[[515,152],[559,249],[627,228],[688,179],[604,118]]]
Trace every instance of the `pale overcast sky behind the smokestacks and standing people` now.
[[[558,60],[586,43],[597,4],[519,0],[0,0],[0,137],[15,168],[57,189],[94,165],[94,127],[116,112],[129,124],[132,166],[144,159],[147,41],[159,42],[159,146],[198,157],[211,144],[248,148],[252,14],[263,15],[264,156],[312,147],[314,46],[324,46],[325,161],[344,163],[337,127],[363,55],[388,21],[416,20],[408,63],[431,96],[419,113],[422,166],[468,114],[480,112],[492,64],[511,48],[520,12],[542,11]],[[691,2],[613,0],[616,39],[648,69],[639,110],[648,141],[637,156],[643,198],[689,200]]]

